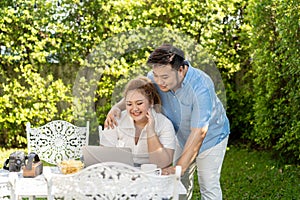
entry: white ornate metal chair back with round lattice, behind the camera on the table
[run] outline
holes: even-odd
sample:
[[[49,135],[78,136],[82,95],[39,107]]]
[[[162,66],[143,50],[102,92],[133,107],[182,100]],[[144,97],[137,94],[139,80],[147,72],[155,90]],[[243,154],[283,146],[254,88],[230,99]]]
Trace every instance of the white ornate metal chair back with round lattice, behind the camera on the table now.
[[[41,160],[55,165],[64,159],[81,158],[81,148],[89,141],[89,121],[85,127],[78,127],[55,120],[36,128],[28,122],[26,132],[28,152],[35,152]]]

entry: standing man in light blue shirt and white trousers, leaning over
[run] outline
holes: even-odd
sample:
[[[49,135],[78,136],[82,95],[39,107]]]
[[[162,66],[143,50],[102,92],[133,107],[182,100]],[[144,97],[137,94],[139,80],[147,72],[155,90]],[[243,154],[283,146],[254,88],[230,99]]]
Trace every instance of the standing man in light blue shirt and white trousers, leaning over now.
[[[156,48],[148,58],[154,82],[162,100],[162,112],[173,123],[182,153],[176,165],[182,167],[182,182],[187,199],[193,191],[193,173],[197,166],[202,199],[222,199],[220,173],[229,136],[229,121],[217,97],[214,84],[203,71],[184,59],[184,52],[172,45]],[[116,124],[124,103],[112,107],[105,126]],[[163,174],[175,173],[175,166]]]

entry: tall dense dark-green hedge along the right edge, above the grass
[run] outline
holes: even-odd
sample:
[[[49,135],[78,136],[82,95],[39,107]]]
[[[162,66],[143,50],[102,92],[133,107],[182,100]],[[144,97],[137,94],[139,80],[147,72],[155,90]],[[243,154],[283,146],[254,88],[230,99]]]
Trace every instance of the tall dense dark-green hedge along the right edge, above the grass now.
[[[252,1],[254,131],[283,159],[300,160],[300,9],[298,1]]]

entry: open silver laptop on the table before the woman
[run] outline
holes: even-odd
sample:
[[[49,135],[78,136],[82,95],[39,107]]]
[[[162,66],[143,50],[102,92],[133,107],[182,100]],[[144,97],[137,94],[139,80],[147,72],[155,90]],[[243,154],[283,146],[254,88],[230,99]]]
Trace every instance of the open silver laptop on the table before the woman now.
[[[88,145],[83,146],[82,151],[85,167],[101,162],[120,162],[134,166],[130,148]]]

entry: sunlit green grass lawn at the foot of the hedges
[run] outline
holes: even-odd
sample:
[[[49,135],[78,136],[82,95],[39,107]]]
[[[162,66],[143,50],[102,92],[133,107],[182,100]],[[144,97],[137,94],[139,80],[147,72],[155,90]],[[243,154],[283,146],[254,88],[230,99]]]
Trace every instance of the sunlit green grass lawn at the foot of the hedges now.
[[[0,148],[0,167],[9,154],[18,149]],[[229,146],[222,168],[221,185],[224,200],[298,200],[300,199],[300,166],[284,165],[271,152]],[[193,199],[200,199],[195,175]]]

